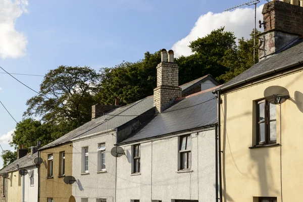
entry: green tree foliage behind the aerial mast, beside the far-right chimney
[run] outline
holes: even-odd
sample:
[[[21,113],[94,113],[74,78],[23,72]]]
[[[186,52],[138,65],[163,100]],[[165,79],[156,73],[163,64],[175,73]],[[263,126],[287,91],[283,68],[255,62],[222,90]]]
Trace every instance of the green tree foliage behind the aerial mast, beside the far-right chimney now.
[[[260,33],[260,31],[256,30],[256,34]],[[254,61],[254,30],[252,30],[250,36],[251,37],[246,40],[242,37],[238,40],[237,46],[226,50],[220,64],[228,68],[228,71],[217,77],[219,81],[225,83],[238,76],[255,63],[258,63],[259,40],[256,40],[256,56]]]

